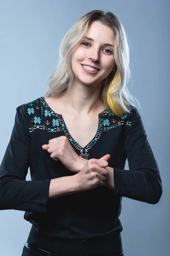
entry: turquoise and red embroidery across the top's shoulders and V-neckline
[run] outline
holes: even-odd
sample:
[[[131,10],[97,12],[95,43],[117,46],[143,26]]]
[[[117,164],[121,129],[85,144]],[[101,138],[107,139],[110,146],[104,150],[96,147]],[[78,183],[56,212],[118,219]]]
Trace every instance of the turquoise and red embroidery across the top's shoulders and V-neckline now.
[[[34,103],[34,104],[33,104]],[[28,105],[33,106],[33,108],[28,108]],[[91,142],[89,142],[84,148],[82,148],[69,133],[67,127],[65,126],[65,122],[62,118],[62,115],[52,111],[52,109],[45,102],[44,97],[38,98],[30,103],[26,103],[22,105],[23,111],[24,106],[27,106],[28,114],[31,115],[29,117],[29,132],[34,132],[36,129],[48,131],[48,132],[62,132],[68,138],[70,143],[79,150],[79,155],[82,158],[88,159],[89,150],[94,146],[94,144],[99,140],[101,135],[110,129],[116,128],[120,125],[124,125],[127,119],[128,114],[124,114],[123,116],[116,116],[109,108],[105,111],[99,113],[99,126],[96,132],[96,135]],[[131,111],[133,108],[130,108]],[[48,116],[51,116],[49,118]],[[109,117],[110,116],[110,117]],[[54,118],[53,118],[54,117]],[[33,121],[34,120],[34,121]],[[49,122],[50,121],[50,122]],[[38,123],[34,125],[34,123]],[[39,125],[41,123],[41,125]],[[131,126],[131,122],[127,122],[126,125]]]

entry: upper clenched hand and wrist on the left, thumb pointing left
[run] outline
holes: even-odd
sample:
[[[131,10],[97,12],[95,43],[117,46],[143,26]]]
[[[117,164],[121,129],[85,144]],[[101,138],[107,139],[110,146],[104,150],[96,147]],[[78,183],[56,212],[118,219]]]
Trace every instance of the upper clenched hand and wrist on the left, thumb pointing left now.
[[[82,158],[72,148],[66,136],[60,136],[49,140],[42,145],[44,150],[50,153],[50,157],[60,162],[71,172],[78,172],[82,165]]]

